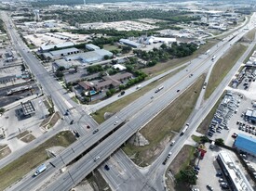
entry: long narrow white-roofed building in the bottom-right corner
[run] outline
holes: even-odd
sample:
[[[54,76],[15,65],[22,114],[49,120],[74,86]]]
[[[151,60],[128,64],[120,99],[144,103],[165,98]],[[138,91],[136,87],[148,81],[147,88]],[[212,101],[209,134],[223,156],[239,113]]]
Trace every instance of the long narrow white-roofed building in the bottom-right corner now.
[[[233,191],[253,191],[245,174],[238,165],[231,159],[227,152],[220,152],[217,161],[222,168],[222,172]]]

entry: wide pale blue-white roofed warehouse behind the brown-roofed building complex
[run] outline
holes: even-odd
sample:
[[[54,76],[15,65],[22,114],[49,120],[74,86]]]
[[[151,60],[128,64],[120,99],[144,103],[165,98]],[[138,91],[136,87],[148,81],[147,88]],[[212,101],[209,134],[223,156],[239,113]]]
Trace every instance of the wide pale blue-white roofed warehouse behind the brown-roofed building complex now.
[[[113,57],[113,53],[104,49],[89,51],[86,53],[78,53],[73,56],[65,57],[65,60],[81,60],[83,63],[95,63],[104,59],[104,57]]]

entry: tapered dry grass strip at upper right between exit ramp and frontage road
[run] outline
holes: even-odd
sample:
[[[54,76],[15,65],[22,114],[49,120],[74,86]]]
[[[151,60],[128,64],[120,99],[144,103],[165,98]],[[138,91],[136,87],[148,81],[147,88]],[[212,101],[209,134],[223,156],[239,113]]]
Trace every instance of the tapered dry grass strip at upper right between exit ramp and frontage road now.
[[[209,83],[207,85],[205,99],[209,98],[218,85],[222,83],[224,77],[234,67],[236,61],[244,54],[247,48],[248,46],[238,43],[217,61],[209,76]]]

